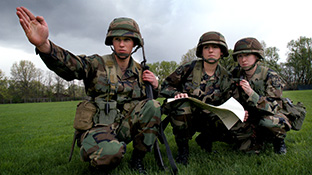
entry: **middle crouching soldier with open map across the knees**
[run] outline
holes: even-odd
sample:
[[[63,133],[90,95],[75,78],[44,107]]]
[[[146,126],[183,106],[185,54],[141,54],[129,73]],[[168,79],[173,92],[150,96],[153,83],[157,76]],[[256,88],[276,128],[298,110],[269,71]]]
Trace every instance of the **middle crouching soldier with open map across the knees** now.
[[[179,66],[165,79],[160,94],[176,99],[194,97],[208,104],[221,105],[232,95],[231,75],[219,64],[219,60],[228,55],[228,47],[221,33],[204,33],[196,48],[199,59]],[[178,163],[188,164],[189,140],[196,132],[200,132],[196,142],[208,152],[211,152],[213,141],[232,141],[229,131],[215,114],[199,109],[188,101],[168,104],[164,112],[171,117],[178,146]]]

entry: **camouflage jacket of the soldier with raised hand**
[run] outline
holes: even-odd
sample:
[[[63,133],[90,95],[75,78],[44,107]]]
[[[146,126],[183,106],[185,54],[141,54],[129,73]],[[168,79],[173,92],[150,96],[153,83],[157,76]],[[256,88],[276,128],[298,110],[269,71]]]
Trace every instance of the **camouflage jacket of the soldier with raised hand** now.
[[[100,55],[79,55],[75,56],[67,50],[51,43],[51,54],[43,54],[37,50],[41,59],[49,69],[67,81],[73,79],[83,80],[85,90],[92,99],[96,97],[106,97],[110,92],[108,84],[108,72],[105,70],[103,58]],[[117,101],[117,107],[123,111],[129,111],[139,101],[146,99],[145,86],[139,83],[141,67],[135,63],[131,57],[129,67],[122,74],[118,64],[111,54],[114,64],[117,67],[118,84],[116,89],[111,91],[115,95],[112,100]]]

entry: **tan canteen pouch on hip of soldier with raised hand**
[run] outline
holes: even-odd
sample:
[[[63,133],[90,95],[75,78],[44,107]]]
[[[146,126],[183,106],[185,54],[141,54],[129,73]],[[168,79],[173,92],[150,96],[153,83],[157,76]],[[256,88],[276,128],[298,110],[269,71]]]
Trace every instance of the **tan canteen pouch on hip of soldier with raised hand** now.
[[[77,130],[88,130],[93,126],[93,117],[97,113],[97,107],[88,100],[77,105],[74,119],[74,128]]]

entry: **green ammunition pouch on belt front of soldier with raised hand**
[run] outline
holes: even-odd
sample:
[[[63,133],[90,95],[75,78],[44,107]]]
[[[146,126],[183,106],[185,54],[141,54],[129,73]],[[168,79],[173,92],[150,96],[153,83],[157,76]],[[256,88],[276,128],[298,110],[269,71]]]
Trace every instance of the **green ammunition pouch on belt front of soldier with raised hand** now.
[[[104,98],[97,98],[95,103],[98,106],[99,112],[93,117],[95,125],[108,126],[113,123],[120,123],[123,115],[117,109],[116,101],[105,101]]]

